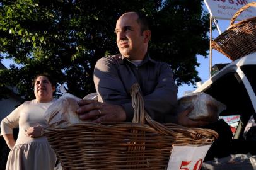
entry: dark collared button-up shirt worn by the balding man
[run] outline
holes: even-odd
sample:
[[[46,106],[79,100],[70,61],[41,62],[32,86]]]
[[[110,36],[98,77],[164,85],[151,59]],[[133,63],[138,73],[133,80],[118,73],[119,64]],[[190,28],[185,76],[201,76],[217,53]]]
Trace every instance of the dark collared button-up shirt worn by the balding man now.
[[[130,89],[136,82],[145,110],[154,120],[165,122],[166,115],[177,106],[177,86],[170,65],[156,62],[148,54],[137,67],[120,54],[101,58],[95,65],[94,82],[98,101],[123,106],[127,122],[134,115]]]

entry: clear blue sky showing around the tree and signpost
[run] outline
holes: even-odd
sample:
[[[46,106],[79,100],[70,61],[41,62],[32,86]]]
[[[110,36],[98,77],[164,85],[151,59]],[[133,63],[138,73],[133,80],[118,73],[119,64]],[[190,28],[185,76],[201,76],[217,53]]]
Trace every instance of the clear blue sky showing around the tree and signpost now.
[[[204,10],[207,11],[206,5],[204,4],[203,6]],[[228,28],[230,24],[229,20],[218,20],[218,25],[219,28],[221,29],[221,32],[223,32],[224,30],[226,30],[226,28]],[[217,30],[212,31],[212,38],[216,38],[218,37],[219,33]],[[202,82],[207,81],[207,79],[209,79],[209,55],[207,56],[207,58],[202,57],[201,55],[197,56],[197,62],[199,62],[199,67],[196,67],[197,71],[199,72],[198,76],[202,79]],[[216,50],[212,50],[212,66],[214,64],[218,64],[218,63],[230,63],[231,60],[228,59],[228,57],[225,57],[223,54],[221,54],[220,52],[216,51]],[[6,60],[3,59],[2,63],[6,66],[9,67],[10,64],[13,64],[12,60]],[[186,91],[194,91],[196,89],[196,86],[192,86],[192,85],[187,85],[187,84],[183,84],[182,86],[180,86],[178,88],[178,98],[182,97],[183,94]]]

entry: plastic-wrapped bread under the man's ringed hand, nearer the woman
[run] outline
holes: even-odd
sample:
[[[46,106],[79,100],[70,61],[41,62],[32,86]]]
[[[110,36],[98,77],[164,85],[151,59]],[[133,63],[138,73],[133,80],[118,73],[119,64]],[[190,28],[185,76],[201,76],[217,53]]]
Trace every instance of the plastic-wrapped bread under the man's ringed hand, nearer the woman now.
[[[64,127],[86,122],[80,120],[76,114],[76,109],[79,107],[77,101],[79,100],[81,99],[70,93],[64,93],[45,111],[47,125],[49,127]]]

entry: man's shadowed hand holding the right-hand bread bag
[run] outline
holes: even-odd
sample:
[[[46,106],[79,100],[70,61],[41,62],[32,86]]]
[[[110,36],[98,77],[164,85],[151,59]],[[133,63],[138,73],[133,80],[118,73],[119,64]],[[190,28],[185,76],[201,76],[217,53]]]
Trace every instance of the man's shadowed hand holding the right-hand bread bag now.
[[[177,115],[177,124],[184,127],[201,127],[209,124],[209,122],[202,120],[191,120],[188,115],[194,109],[194,106],[189,106]]]

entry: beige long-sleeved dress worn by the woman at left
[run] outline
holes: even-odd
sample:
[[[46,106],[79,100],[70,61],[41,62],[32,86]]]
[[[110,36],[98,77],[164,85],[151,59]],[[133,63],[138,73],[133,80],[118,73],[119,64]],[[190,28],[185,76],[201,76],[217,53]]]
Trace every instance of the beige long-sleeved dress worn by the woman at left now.
[[[45,110],[55,101],[38,103],[26,101],[1,122],[1,135],[12,134],[19,126],[18,139],[9,152],[6,170],[54,169],[55,153],[45,137],[26,136],[26,129],[36,125],[45,127]]]

